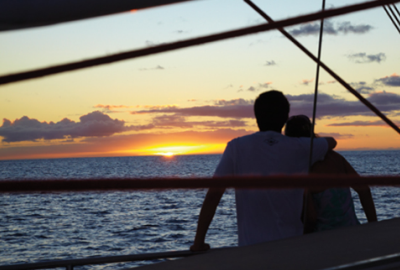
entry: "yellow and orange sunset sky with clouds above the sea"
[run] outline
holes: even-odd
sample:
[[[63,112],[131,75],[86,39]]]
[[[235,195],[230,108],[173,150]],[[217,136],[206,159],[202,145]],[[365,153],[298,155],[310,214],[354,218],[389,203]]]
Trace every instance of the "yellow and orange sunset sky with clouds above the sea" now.
[[[254,2],[275,20],[321,9],[320,0]],[[0,74],[261,23],[243,1],[204,0],[0,32]],[[319,22],[286,30],[317,54]],[[397,125],[399,44],[382,8],[325,22],[322,61]],[[222,153],[257,131],[253,101],[263,91],[282,91],[291,115],[311,116],[315,69],[268,31],[0,86],[0,159]],[[400,148],[400,135],[323,70],[319,91],[316,133],[335,137],[338,150]]]

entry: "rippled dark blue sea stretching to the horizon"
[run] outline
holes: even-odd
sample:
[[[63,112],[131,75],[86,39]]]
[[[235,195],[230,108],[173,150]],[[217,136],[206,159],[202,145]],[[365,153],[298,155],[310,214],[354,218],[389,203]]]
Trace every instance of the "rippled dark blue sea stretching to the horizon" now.
[[[399,175],[400,151],[340,152],[361,175]],[[220,155],[0,161],[0,180],[210,177]],[[0,194],[0,265],[187,250],[206,190]],[[372,188],[378,219],[400,217],[400,189]],[[366,222],[357,195],[357,216]],[[223,196],[206,241],[237,245],[233,190]],[[153,261],[154,262],[154,261]],[[74,269],[125,269],[151,262]]]

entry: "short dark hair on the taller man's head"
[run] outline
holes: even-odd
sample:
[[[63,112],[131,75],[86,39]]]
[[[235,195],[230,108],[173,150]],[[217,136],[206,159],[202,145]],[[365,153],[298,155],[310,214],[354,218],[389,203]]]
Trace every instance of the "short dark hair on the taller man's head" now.
[[[289,101],[280,91],[264,92],[254,102],[254,114],[261,131],[282,129],[288,119],[289,111]]]

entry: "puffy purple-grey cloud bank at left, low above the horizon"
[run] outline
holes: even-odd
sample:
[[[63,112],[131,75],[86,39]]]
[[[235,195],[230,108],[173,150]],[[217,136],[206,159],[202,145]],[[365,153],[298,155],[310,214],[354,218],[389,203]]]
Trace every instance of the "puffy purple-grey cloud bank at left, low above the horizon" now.
[[[104,137],[115,133],[129,130],[149,129],[153,126],[125,126],[125,122],[118,119],[111,119],[108,115],[99,111],[94,111],[81,116],[79,122],[74,122],[68,118],[60,122],[39,122],[23,116],[11,122],[3,119],[0,127],[0,136],[3,142],[36,141],[40,139],[73,139],[78,137]]]

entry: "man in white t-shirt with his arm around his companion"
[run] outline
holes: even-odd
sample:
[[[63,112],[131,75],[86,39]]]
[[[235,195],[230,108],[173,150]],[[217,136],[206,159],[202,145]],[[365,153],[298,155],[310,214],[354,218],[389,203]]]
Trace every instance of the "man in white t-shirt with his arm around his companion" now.
[[[290,105],[279,91],[260,94],[254,103],[259,132],[230,141],[214,176],[272,175],[308,172],[309,138],[291,138],[281,131]],[[333,138],[314,139],[313,163],[336,146]],[[208,227],[225,189],[211,188],[200,211],[192,251],[207,250]],[[303,234],[302,189],[237,189],[239,246]]]

